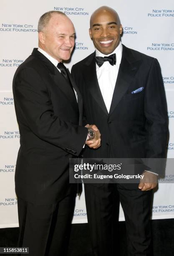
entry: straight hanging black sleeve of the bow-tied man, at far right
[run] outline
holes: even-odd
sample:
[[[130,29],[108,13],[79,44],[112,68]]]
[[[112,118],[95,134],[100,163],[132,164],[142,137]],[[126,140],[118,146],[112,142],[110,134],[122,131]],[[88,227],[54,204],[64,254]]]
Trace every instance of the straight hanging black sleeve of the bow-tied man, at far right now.
[[[161,69],[157,59],[154,59],[147,79],[144,114],[146,116],[146,158],[151,159],[151,171],[161,173],[162,160],[166,156],[168,138],[168,114]],[[152,159],[159,159],[156,161]],[[161,165],[161,166],[160,166]],[[154,166],[156,168],[154,169]]]

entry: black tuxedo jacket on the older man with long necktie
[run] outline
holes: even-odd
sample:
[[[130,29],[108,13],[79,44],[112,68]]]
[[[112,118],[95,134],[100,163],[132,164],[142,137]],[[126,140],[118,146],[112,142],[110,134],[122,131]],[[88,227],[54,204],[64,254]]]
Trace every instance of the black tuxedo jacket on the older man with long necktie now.
[[[88,130],[82,125],[83,102],[78,103],[70,85],[37,49],[18,67],[13,79],[20,149],[15,171],[18,197],[36,204],[50,204],[72,190],[69,158],[77,157]]]

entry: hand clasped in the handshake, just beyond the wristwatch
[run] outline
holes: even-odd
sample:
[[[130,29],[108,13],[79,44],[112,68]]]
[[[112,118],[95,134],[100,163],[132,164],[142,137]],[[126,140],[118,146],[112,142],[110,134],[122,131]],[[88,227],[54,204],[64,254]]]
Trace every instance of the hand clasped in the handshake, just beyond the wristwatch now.
[[[87,124],[85,127],[87,128],[91,128],[91,130],[93,130],[93,132],[95,133],[95,136],[92,140],[88,140],[86,141],[86,145],[89,147],[89,148],[99,148],[100,145],[101,145],[101,134],[100,134],[100,131],[98,130],[98,128],[96,127],[96,125],[89,125]]]

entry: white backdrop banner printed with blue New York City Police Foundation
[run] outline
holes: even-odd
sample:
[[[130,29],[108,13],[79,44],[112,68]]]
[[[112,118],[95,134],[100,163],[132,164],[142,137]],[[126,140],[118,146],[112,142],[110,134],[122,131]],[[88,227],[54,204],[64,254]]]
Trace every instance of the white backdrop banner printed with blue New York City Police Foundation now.
[[[16,68],[38,46],[38,19],[48,10],[59,10],[73,21],[76,45],[71,66],[94,51],[88,35],[90,16],[104,0],[0,1],[0,228],[17,227],[14,189],[15,163],[20,133],[15,117],[12,80]],[[170,139],[168,157],[174,157],[174,1],[108,0],[124,28],[122,43],[158,59],[168,103]],[[128,110],[129,111],[129,110]],[[174,179],[166,174],[166,181]],[[153,219],[174,218],[173,183],[159,184],[154,193]],[[120,209],[120,220],[124,214]],[[84,193],[76,199],[73,223],[87,222]]]

